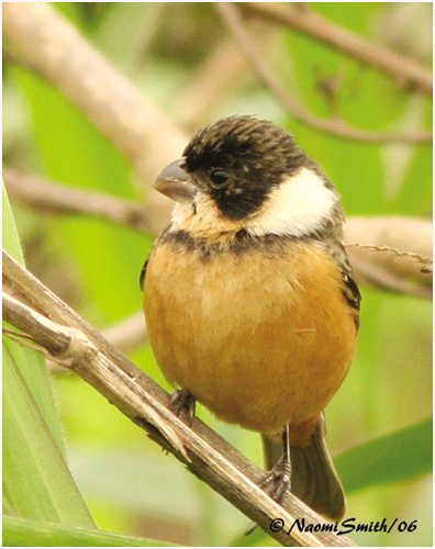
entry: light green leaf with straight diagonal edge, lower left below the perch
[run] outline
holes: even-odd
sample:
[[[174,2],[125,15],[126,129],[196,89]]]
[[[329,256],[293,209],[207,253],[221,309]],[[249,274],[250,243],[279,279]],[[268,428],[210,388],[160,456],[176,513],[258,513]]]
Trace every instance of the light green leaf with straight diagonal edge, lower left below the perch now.
[[[23,517],[93,520],[14,357],[3,346],[3,493]]]

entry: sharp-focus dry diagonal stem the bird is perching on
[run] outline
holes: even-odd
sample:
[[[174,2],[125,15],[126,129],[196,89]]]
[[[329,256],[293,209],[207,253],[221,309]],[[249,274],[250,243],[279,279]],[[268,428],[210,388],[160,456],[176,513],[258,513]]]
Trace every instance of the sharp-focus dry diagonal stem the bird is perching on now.
[[[354,545],[344,536],[328,531],[311,534],[298,528],[290,535],[285,529],[271,531],[270,523],[277,517],[289,526],[295,517],[302,516],[313,525],[326,523],[293,495],[286,502],[288,511],[269,497],[257,485],[264,471],[198,418],[190,428],[175,416],[168,407],[167,393],[4,251],[3,277],[3,315],[8,322],[30,335],[57,363],[70,368],[94,386],[153,440],[280,544],[303,547]]]

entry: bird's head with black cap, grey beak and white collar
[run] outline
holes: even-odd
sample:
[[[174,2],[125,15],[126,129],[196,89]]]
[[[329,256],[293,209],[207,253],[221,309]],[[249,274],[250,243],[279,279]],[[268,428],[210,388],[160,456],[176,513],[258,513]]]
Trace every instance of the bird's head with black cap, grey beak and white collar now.
[[[230,116],[198,132],[154,187],[178,202],[172,224],[190,220],[210,232],[301,237],[332,219],[342,222],[337,192],[294,137],[252,116]]]

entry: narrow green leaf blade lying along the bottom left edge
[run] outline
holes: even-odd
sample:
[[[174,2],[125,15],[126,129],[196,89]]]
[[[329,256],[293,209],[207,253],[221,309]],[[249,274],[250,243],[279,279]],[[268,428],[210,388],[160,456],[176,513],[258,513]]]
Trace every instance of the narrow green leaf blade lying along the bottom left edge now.
[[[174,547],[170,544],[110,531],[64,526],[29,518],[3,517],[7,547]]]

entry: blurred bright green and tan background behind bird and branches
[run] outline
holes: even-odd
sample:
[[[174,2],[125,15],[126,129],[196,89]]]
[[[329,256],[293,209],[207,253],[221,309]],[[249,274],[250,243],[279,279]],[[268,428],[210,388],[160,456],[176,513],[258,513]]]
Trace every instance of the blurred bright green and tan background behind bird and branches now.
[[[257,60],[266,64],[294,104],[303,105],[312,117],[345,121],[349,127],[379,134],[423,137],[382,142],[334,135],[295,116],[260,80],[233,35],[228,22],[233,12],[226,12],[225,19],[222,8],[201,2],[51,5],[186,138],[230,114],[269,119],[291,131],[323,167],[348,216],[431,217],[432,144],[423,137],[431,128],[432,101],[422,90],[403,86],[310,33],[277,24],[247,7],[237,8],[235,13],[257,46]],[[430,66],[432,3],[313,2],[293,8],[313,11],[369,43]],[[22,173],[138,205],[146,206],[148,197],[152,200],[153,170],[149,177],[138,173],[131,159],[72,102],[8,47],[3,163]],[[158,169],[155,166],[154,173]],[[14,200],[12,190],[10,195],[26,265],[35,276],[103,333],[140,313],[138,276],[155,234],[94,216],[26,208]],[[409,470],[391,482],[388,470],[394,468],[397,458],[392,446],[383,458],[386,481],[370,485],[364,478],[370,477],[371,467],[379,467],[376,456],[367,456],[362,463],[367,471],[360,462],[348,470],[346,456],[359,445],[388,440],[390,434],[432,415],[432,303],[424,296],[369,284],[360,289],[357,355],[327,408],[330,448],[347,489],[348,517],[356,517],[357,523],[417,520],[417,528],[352,537],[362,546],[428,546],[431,478],[413,474],[410,459]],[[129,344],[126,351],[170,390],[145,336],[143,343],[138,338]],[[64,372],[54,372],[52,379],[70,469],[100,528],[201,546],[230,545],[243,534],[246,517],[164,455],[92,388]],[[198,414],[261,466],[257,434],[222,424],[201,406]],[[428,439],[424,444],[432,447]],[[275,544],[267,537],[256,542]]]

